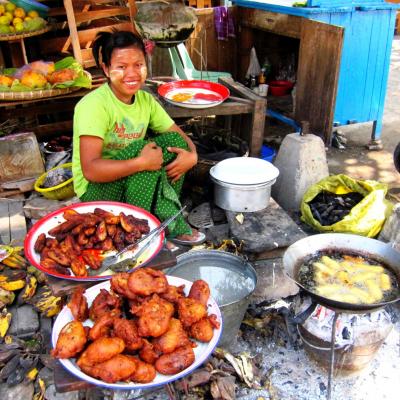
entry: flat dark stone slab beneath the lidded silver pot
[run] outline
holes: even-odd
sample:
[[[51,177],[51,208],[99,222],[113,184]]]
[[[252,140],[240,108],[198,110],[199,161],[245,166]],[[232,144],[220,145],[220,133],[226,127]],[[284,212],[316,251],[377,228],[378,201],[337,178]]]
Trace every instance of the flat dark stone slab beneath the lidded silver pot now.
[[[243,214],[243,223],[237,220]],[[287,247],[306,237],[302,229],[271,198],[268,207],[253,213],[227,211],[226,216],[232,236],[244,242],[244,251],[262,253]]]

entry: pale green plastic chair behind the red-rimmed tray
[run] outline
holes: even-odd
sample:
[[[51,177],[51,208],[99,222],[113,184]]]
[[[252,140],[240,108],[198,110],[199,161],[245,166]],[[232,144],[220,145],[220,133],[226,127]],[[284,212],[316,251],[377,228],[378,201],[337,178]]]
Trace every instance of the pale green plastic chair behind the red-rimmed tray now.
[[[170,47],[168,50],[172,63],[172,75],[175,78],[200,79],[210,82],[218,82],[218,78],[232,77],[229,72],[197,70],[194,67],[192,60],[190,59],[189,53],[187,52],[186,47],[183,43],[180,43],[174,47]]]

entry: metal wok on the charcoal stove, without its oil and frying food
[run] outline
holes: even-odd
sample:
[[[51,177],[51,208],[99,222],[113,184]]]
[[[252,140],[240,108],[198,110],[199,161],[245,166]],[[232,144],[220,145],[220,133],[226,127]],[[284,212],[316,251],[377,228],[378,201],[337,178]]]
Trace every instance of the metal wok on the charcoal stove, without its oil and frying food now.
[[[361,256],[370,257],[381,262],[394,273],[400,287],[400,253],[394,250],[391,244],[346,233],[312,235],[298,240],[288,247],[283,256],[283,269],[298,286],[306,291],[319,304],[342,311],[367,312],[400,300],[400,293],[397,293],[397,296],[389,301],[375,304],[351,304],[331,300],[311,292],[299,282],[299,269],[305,258],[324,250],[358,253]]]

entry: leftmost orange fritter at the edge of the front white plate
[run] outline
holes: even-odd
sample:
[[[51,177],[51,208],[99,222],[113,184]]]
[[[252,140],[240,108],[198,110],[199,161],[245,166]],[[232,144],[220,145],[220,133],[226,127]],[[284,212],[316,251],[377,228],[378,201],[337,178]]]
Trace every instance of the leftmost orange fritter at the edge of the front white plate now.
[[[83,350],[86,342],[86,331],[82,322],[71,321],[61,329],[56,348],[51,351],[51,355],[56,358],[75,357]]]

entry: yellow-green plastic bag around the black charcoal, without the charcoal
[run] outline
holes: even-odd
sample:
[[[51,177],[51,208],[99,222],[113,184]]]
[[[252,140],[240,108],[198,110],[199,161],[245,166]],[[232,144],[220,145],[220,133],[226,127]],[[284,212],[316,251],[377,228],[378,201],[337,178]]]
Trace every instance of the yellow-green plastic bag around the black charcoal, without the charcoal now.
[[[333,175],[311,186],[301,202],[301,219],[322,232],[355,233],[362,236],[376,236],[392,210],[392,204],[385,199],[388,186],[372,180],[356,180],[347,175]],[[308,205],[320,192],[347,194],[358,192],[364,198],[356,204],[342,220],[333,225],[321,225]]]

